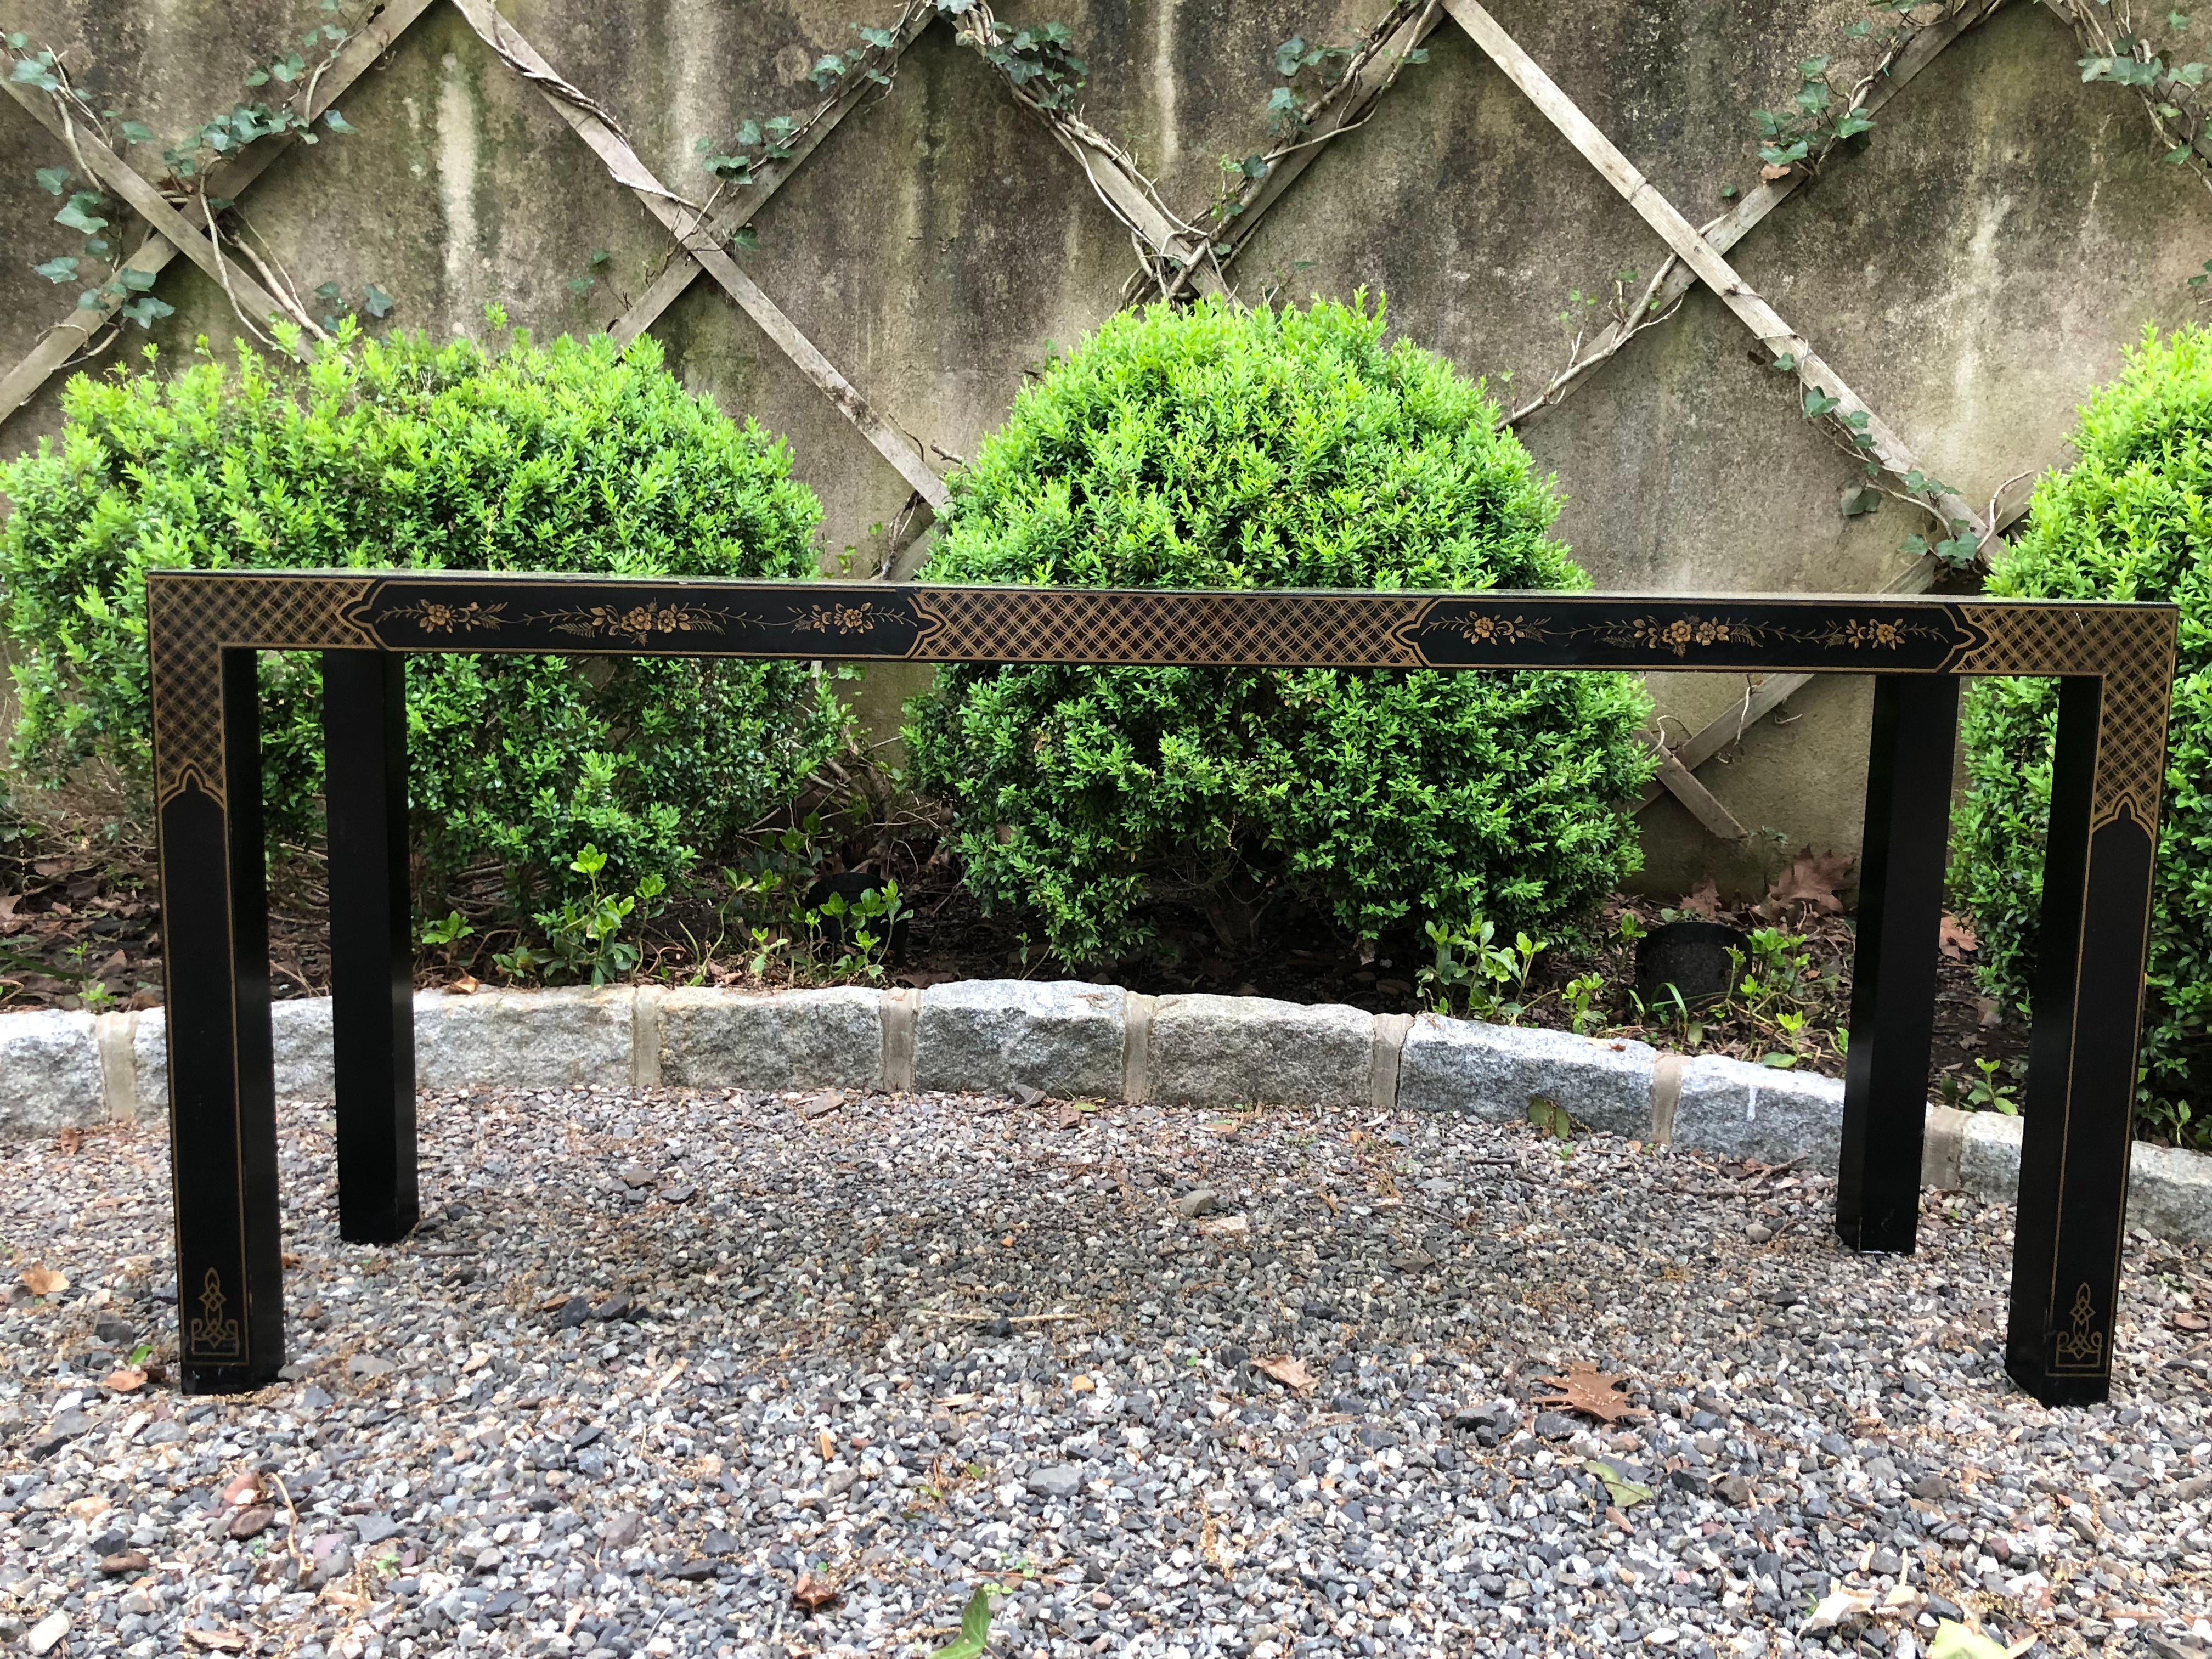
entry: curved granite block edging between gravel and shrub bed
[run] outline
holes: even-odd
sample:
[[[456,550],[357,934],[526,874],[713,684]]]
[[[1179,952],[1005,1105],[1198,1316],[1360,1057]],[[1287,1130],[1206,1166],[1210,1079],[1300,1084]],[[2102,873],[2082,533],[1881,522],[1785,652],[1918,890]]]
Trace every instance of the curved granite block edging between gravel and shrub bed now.
[[[272,1004],[276,1093],[327,1099],[330,1000]],[[0,1013],[0,1135],[168,1106],[166,1015]],[[422,1088],[883,1088],[1190,1106],[1464,1110],[1577,1124],[1712,1157],[1834,1170],[1843,1084],[1641,1042],[1272,998],[1141,995],[1075,980],[927,991],[606,987],[416,993]],[[1929,1106],[1922,1183],[2008,1201],[2020,1119]],[[2212,1241],[2212,1157],[2135,1148],[2128,1225]]]

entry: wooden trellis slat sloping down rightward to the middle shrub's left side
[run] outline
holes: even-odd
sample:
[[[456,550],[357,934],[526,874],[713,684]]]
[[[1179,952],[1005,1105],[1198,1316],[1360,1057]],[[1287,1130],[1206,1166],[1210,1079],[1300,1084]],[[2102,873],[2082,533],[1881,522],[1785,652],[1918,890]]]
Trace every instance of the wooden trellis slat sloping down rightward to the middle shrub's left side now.
[[[489,0],[453,0],[460,15],[469,20],[469,27],[484,40],[491,51],[502,60],[515,60],[533,71],[531,84],[538,93],[553,106],[568,128],[591,146],[593,155],[606,164],[606,170],[615,175],[650,212],[659,219],[670,234],[675,234],[684,250],[706,268],[723,290],[743,307],[743,312],[759,323],[761,332],[776,343],[776,347],[799,365],[821,392],[836,405],[838,414],[845,416],[858,429],[863,438],[883,456],[898,476],[914,487],[914,491],[931,507],[942,507],[949,498],[945,480],[922,460],[920,447],[885,420],[876,409],[860,396],[860,392],[838,374],[836,365],[825,358],[814,343],[799,332],[783,310],[761,292],[730,254],[710,241],[697,228],[697,212],[686,206],[679,197],[670,195],[659,179],[653,177],[637,150],[624,142],[599,115],[591,108],[568,102],[557,91],[566,86],[560,80],[560,71],[546,62],[522,33],[507,22],[498,11],[491,9]]]

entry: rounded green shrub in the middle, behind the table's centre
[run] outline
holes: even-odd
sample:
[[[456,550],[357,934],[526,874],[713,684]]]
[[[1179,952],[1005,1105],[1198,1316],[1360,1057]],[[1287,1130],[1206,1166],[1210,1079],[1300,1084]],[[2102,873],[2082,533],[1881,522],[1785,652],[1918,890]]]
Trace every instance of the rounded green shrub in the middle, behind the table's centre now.
[[[1115,316],[953,478],[929,577],[1586,586],[1482,383],[1383,336],[1365,296]],[[1285,896],[1365,940],[1555,922],[1639,863],[1646,710],[1619,675],[960,666],[907,752],[982,902],[1097,962],[1161,898],[1230,940]]]

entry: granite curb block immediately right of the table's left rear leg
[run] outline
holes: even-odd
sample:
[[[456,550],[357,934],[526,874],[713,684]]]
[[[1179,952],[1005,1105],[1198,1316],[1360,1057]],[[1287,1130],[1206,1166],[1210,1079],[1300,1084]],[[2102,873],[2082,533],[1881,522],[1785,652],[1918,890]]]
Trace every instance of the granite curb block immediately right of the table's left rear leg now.
[[[422,1088],[568,1088],[630,1082],[630,989],[416,993]],[[557,1033],[557,1035],[555,1035]]]

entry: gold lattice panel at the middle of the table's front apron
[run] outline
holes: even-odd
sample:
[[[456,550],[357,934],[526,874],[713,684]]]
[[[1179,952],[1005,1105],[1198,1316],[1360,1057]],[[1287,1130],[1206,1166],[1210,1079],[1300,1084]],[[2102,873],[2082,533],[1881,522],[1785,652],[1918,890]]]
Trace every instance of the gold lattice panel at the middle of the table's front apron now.
[[[1427,595],[918,591],[920,659],[1126,664],[1367,664],[1413,668],[1402,637]]]

